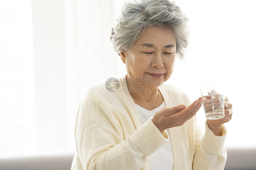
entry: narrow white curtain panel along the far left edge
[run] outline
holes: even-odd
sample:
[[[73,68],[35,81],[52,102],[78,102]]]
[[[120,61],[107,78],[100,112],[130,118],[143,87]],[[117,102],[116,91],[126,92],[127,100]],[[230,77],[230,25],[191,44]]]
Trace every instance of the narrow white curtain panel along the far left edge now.
[[[35,150],[31,1],[0,3],[0,155]]]

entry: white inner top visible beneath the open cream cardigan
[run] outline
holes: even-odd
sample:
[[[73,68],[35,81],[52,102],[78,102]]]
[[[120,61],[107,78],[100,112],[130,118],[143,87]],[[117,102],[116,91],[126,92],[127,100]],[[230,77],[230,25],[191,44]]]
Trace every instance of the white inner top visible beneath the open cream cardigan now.
[[[140,107],[138,104],[135,104],[141,124],[146,123],[150,117],[154,117],[154,114],[165,107],[165,103],[163,102],[159,107],[153,110],[147,110],[143,107]],[[170,135],[169,131],[167,130]],[[171,145],[171,140],[159,148],[156,152],[149,156],[150,158],[150,168],[151,170],[171,170],[174,169],[174,155]]]

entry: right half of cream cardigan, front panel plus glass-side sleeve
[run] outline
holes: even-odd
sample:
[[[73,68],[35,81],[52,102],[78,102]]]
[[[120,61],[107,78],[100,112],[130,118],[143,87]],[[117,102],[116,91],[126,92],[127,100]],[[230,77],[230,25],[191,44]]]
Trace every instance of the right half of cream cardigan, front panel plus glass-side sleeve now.
[[[188,107],[191,104],[188,96],[176,87],[168,85],[162,86],[161,93],[165,101],[168,100],[167,104],[169,104],[169,107],[174,107],[179,104],[185,104],[186,107]],[[174,169],[224,169],[227,158],[227,152],[224,147],[227,134],[224,125],[222,128],[222,136],[215,136],[209,129],[206,121],[205,134],[203,134],[200,126],[197,125],[195,115],[184,125],[174,127],[173,129],[175,129],[175,132],[179,133],[179,136],[176,135],[177,133],[170,134],[173,139],[173,147],[175,147],[173,149],[175,161]],[[182,136],[183,139],[180,139],[180,136]]]

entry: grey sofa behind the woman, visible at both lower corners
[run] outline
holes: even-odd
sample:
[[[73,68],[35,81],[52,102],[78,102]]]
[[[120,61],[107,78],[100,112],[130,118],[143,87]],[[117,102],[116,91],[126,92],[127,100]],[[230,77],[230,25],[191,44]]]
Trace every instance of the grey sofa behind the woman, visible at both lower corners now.
[[[1,170],[70,170],[74,152],[37,153],[0,158]],[[224,170],[255,170],[255,148],[227,148]]]

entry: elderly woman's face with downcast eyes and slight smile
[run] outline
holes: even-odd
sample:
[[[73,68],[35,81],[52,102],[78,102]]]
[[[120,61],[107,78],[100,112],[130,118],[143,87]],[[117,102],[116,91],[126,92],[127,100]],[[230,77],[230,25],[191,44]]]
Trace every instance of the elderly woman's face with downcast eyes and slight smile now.
[[[129,78],[151,78],[157,87],[171,77],[176,58],[176,38],[170,28],[151,26],[132,46],[121,53]]]

